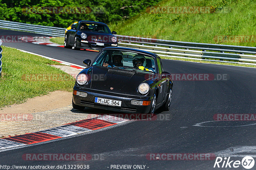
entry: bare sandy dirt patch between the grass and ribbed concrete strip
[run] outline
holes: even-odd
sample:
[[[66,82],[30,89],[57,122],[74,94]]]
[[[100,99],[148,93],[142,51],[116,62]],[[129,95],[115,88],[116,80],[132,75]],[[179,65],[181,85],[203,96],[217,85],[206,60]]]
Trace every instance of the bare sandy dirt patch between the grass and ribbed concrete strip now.
[[[28,99],[22,104],[13,104],[0,109],[0,114],[29,114],[67,106],[72,102],[72,92],[54,91],[49,95]]]

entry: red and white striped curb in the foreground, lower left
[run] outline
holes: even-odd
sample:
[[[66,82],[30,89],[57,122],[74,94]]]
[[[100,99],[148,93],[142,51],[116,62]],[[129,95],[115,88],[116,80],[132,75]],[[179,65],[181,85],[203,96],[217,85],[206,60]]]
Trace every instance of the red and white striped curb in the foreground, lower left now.
[[[74,123],[53,127],[42,131],[13,136],[10,138],[2,138],[0,139],[0,150],[73,136],[76,134],[113,126],[126,121],[130,120],[109,115],[100,115],[97,118],[80,120]]]

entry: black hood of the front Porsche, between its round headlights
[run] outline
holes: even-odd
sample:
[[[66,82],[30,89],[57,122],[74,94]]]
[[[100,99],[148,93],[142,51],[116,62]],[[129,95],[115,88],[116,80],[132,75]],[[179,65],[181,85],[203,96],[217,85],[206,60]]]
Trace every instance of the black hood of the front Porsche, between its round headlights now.
[[[140,83],[146,81],[145,75],[124,69],[92,67],[91,89],[134,95]]]

